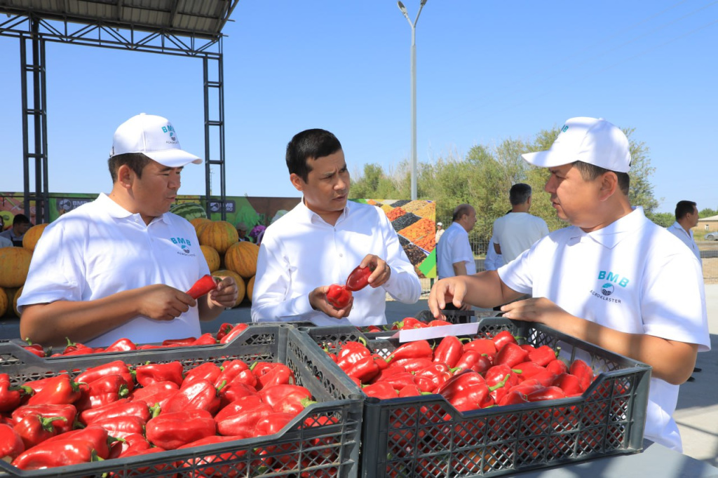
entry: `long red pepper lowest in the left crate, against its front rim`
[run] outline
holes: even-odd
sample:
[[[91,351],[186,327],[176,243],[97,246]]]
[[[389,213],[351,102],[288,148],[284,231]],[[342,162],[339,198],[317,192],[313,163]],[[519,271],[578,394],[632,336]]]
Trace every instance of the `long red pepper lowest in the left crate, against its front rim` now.
[[[89,441],[69,439],[34,446],[14,459],[12,466],[30,470],[64,467],[96,460],[97,452]]]

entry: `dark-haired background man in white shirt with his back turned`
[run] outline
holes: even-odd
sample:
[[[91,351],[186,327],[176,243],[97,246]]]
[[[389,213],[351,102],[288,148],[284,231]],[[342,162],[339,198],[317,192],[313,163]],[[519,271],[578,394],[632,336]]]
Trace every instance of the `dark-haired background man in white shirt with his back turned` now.
[[[494,221],[491,238],[494,250],[502,256],[504,264],[510,263],[537,240],[549,235],[546,221],[528,214],[531,209],[531,186],[521,182],[514,184],[508,193],[508,200],[511,210]]]

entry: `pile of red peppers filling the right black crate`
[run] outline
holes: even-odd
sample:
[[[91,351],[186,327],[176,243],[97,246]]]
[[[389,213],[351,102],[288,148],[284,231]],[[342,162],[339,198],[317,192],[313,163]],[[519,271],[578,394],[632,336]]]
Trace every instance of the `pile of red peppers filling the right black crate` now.
[[[458,411],[574,397],[595,378],[583,360],[568,365],[548,345],[519,345],[508,331],[474,339],[449,335],[435,349],[426,340],[407,342],[388,357],[364,342],[325,350],[370,397],[438,393]]]

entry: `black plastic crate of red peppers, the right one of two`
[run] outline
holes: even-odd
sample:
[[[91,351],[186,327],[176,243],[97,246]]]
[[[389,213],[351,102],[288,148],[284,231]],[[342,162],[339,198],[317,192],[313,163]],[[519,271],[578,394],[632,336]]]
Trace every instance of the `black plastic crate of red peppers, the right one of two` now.
[[[643,448],[651,367],[541,324],[485,318],[478,336],[502,330],[521,337],[520,343],[561,347],[562,357],[586,360],[597,378],[580,397],[466,413],[441,395],[365,398],[363,477],[500,476]],[[302,331],[317,344],[364,337],[353,327]],[[385,357],[399,345],[368,343]],[[346,375],[342,381],[353,384]]]

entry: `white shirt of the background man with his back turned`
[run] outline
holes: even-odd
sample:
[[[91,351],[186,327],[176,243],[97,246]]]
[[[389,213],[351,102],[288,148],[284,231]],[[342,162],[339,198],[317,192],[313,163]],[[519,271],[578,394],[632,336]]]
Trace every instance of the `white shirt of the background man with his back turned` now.
[[[491,240],[501,248],[501,264],[508,264],[545,235],[549,235],[549,227],[541,217],[509,212],[494,221]]]

